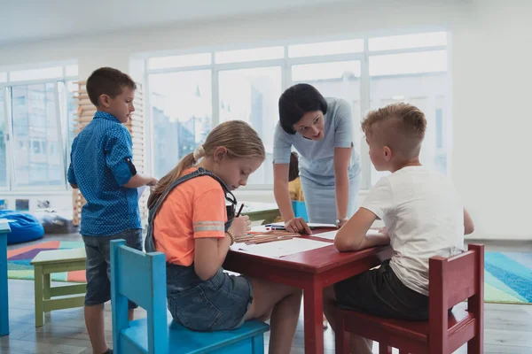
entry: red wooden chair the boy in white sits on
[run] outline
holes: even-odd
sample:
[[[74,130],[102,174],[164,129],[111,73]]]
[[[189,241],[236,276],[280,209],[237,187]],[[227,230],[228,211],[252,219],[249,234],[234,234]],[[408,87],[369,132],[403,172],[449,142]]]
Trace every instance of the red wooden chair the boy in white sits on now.
[[[451,258],[429,260],[429,319],[425,322],[384,319],[361,312],[338,310],[336,352],[348,353],[353,333],[379,342],[379,354],[447,354],[467,342],[468,354],[483,352],[484,245],[470,244]],[[467,299],[467,306],[458,305]]]

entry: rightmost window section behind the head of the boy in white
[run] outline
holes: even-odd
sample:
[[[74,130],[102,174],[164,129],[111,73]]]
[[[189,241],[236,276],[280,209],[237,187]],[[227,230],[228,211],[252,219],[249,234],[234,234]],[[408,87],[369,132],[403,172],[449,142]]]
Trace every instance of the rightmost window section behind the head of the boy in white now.
[[[376,109],[395,102],[414,104],[425,112],[427,129],[421,149],[421,162],[447,173],[448,74],[444,34],[407,35],[370,39],[370,98]],[[433,44],[430,47],[430,44]],[[401,47],[404,49],[401,49]],[[425,47],[425,50],[411,48]],[[372,166],[371,182],[382,175]]]

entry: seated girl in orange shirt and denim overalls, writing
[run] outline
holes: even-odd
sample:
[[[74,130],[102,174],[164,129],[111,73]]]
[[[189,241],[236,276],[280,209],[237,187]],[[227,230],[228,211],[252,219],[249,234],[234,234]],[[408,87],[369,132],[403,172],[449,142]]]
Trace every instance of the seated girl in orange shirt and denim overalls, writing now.
[[[234,237],[250,229],[247,216],[234,217],[231,190],[245,186],[264,158],[261,138],[247,123],[215,127],[154,189],[145,248],[166,254],[168,310],[176,321],[217,331],[271,313],[270,353],[282,354],[292,346],[301,289],[222,267]]]

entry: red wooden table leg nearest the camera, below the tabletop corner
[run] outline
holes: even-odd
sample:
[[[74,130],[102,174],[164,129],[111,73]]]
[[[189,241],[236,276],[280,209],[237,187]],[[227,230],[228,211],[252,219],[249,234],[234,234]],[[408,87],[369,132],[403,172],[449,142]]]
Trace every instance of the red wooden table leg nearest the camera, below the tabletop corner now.
[[[303,289],[305,354],[324,352],[324,289],[317,281]]]

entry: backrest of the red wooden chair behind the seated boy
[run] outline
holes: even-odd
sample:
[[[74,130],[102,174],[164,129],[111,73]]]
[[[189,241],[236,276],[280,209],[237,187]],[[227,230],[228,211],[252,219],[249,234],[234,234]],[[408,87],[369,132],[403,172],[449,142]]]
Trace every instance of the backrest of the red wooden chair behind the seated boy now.
[[[449,309],[467,300],[467,311],[481,335],[484,319],[484,245],[470,244],[455,257],[433,257],[428,266],[428,298],[431,341],[441,342],[448,334]]]

